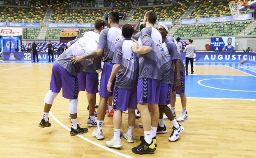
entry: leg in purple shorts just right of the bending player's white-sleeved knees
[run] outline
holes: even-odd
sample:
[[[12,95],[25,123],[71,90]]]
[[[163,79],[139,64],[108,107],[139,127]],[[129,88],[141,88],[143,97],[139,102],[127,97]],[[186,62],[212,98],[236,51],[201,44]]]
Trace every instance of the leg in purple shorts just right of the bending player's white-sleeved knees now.
[[[89,118],[87,126],[97,126],[97,119],[95,119],[95,105],[96,93],[99,92],[99,75],[98,73],[85,73],[86,74],[86,96],[89,104]]]

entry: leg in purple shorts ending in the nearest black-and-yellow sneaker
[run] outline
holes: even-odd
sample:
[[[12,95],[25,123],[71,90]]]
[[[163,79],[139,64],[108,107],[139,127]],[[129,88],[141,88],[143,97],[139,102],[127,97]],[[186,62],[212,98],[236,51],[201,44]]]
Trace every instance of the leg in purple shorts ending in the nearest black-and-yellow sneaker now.
[[[136,154],[152,153],[156,150],[155,144],[152,141],[151,117],[150,117],[150,113],[148,110],[148,103],[150,103],[150,100],[153,100],[155,102],[155,96],[153,96],[154,98],[150,98],[152,95],[152,94],[150,94],[150,92],[152,92],[153,90],[156,90],[156,88],[154,88],[154,86],[150,85],[151,83],[152,83],[151,79],[138,78],[138,86],[137,86],[138,105],[137,105],[137,108],[141,112],[141,121],[143,124],[144,137],[143,136],[140,137],[140,139],[142,141],[142,143],[140,145],[131,149]],[[154,89],[152,89],[152,88],[154,88]],[[155,108],[155,107],[152,106],[152,108]],[[158,109],[158,107],[157,107],[157,109]],[[156,116],[154,116],[154,117],[156,117]],[[159,118],[159,111],[158,111],[157,120],[158,120],[158,118]],[[144,146],[146,146],[147,148],[145,148]]]

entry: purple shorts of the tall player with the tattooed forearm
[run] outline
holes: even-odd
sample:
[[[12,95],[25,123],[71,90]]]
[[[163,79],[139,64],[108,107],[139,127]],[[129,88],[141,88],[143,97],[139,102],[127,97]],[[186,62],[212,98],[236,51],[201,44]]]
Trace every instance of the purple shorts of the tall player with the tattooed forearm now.
[[[108,62],[104,63],[102,72],[101,72],[100,84],[99,84],[99,96],[110,97],[113,95],[113,89],[115,86],[115,78],[112,81],[112,85],[111,85],[112,92],[110,93],[107,90],[108,79],[111,75],[112,68],[113,68],[113,64],[110,64]]]

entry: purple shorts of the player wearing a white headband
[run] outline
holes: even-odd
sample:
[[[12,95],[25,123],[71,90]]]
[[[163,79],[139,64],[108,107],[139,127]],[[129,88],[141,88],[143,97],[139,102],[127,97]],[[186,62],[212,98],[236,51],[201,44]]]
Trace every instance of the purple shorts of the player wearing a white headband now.
[[[171,104],[171,89],[173,85],[161,83],[158,105]]]

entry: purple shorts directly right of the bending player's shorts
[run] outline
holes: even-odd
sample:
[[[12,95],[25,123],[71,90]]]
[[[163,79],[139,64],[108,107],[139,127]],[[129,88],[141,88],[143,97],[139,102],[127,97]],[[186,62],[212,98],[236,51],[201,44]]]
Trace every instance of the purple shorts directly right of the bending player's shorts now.
[[[96,94],[99,92],[99,74],[98,73],[85,73],[82,71],[78,73],[78,89],[79,91],[85,91],[90,94]]]

